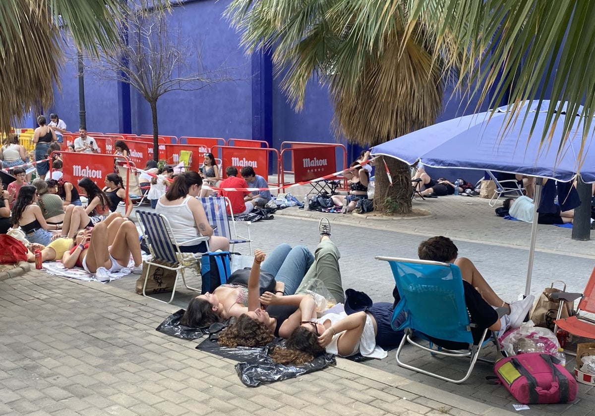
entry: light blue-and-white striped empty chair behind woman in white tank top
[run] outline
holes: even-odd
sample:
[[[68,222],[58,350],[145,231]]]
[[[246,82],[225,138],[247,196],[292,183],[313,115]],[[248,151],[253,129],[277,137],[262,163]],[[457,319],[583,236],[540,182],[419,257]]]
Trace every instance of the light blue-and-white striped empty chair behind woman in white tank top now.
[[[233,219],[233,210],[231,204],[226,197],[206,197],[199,198],[202,206],[205,208],[206,218],[211,226],[216,225],[214,235],[220,235],[229,239],[230,251],[234,251],[234,245],[242,242],[247,242],[250,248],[250,254],[252,254],[252,239],[250,239],[250,222],[243,222],[246,225],[248,237],[242,237],[237,234],[236,221]],[[227,215],[226,207],[230,207],[231,215]],[[231,219],[230,219],[231,217]],[[231,225],[230,225],[231,221]]]

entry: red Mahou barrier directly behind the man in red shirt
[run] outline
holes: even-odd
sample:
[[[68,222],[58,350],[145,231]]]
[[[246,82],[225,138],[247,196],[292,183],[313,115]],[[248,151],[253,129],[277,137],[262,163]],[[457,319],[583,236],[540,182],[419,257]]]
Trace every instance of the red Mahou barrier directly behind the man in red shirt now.
[[[261,175],[268,182],[268,158],[269,153],[273,152],[277,155],[277,167],[279,168],[280,159],[279,152],[277,149],[270,148],[258,148],[258,147],[237,147],[237,146],[213,146],[212,153],[215,150],[221,152],[222,163],[219,166],[222,178],[227,178],[225,168],[227,166],[236,166],[237,170],[240,171],[244,166],[252,166],[254,172],[257,175]],[[268,182],[270,185],[278,185],[279,182],[279,170],[277,169],[277,183]]]

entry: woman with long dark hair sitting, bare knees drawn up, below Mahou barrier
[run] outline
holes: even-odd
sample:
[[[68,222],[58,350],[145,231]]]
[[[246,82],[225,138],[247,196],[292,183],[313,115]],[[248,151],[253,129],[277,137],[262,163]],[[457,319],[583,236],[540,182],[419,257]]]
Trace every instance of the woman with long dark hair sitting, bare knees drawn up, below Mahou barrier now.
[[[68,238],[74,238],[80,229],[93,226],[109,215],[109,199],[95,182],[82,178],[79,187],[87,194],[89,203],[84,209],[74,205],[66,207],[63,230]]]

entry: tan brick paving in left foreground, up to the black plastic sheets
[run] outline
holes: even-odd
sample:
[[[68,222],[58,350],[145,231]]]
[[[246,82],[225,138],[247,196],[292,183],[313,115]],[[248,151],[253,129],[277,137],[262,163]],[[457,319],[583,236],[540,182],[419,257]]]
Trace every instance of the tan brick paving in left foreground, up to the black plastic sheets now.
[[[38,270],[0,282],[0,414],[511,414],[347,360],[249,388],[233,361],[155,332],[176,310]]]

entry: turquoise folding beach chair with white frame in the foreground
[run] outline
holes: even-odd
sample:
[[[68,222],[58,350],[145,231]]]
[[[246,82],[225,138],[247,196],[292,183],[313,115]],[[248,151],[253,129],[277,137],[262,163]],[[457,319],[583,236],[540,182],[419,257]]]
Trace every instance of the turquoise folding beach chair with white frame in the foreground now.
[[[392,321],[395,330],[405,330],[405,336],[403,336],[396,353],[397,364],[409,370],[459,384],[469,378],[477,360],[493,363],[493,361],[479,357],[481,348],[487,345],[489,341],[474,341],[474,334],[471,330],[477,326],[469,321],[463,279],[458,266],[440,263],[439,261],[397,259],[395,257],[377,256],[376,259],[389,262],[400,295],[400,301],[394,308]],[[396,319],[402,311],[406,314],[406,320],[397,327]],[[475,339],[484,340],[488,329],[483,330],[481,337],[477,336],[481,330],[477,329],[475,332]],[[445,348],[433,349],[432,342],[430,342],[429,347],[421,345],[418,340],[414,340],[415,336],[428,341],[430,340],[428,337],[431,337],[433,339],[459,342],[468,346],[468,349],[466,351],[453,351]],[[492,333],[491,338],[496,343],[496,349],[499,353],[500,346],[496,334]],[[462,379],[450,379],[405,363],[401,353],[406,343],[431,354],[469,358],[469,366],[465,376]]]

